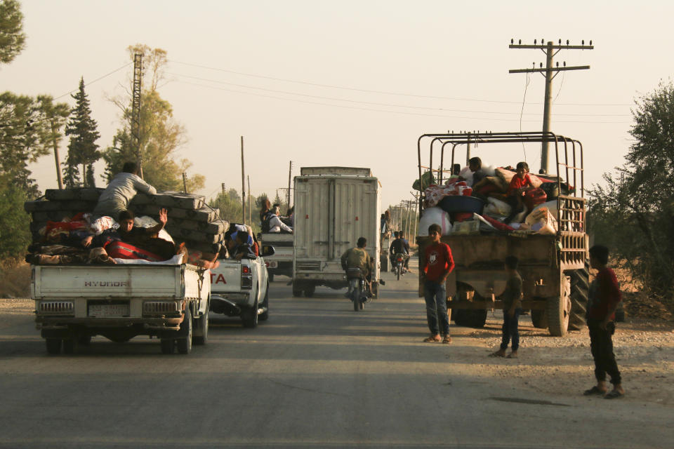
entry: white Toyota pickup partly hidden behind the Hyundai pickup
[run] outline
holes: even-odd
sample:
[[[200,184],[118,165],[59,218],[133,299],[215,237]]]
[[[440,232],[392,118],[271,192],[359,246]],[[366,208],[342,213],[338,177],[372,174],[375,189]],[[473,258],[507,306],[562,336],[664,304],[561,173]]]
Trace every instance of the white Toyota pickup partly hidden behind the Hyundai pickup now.
[[[272,246],[263,246],[256,259],[220,259],[211,269],[211,311],[240,316],[246,328],[269,319],[269,275],[264,257],[274,255]]]

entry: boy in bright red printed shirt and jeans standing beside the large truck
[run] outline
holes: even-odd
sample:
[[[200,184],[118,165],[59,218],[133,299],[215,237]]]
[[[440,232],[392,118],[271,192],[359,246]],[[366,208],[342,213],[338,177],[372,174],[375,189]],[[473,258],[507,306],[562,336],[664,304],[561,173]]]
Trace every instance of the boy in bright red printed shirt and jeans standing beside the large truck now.
[[[432,243],[424,248],[421,260],[421,276],[426,301],[426,319],[430,336],[423,341],[428,343],[451,343],[449,336],[449,316],[447,316],[447,276],[454,269],[454,259],[447,243],[442,243],[440,225],[430,225],[428,236]],[[442,333],[442,337],[440,334]]]

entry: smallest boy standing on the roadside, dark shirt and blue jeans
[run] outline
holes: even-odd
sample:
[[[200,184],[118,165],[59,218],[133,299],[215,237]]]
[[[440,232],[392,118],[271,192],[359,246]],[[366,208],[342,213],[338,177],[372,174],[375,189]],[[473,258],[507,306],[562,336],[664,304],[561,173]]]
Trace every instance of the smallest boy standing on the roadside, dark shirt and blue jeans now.
[[[517,257],[511,255],[505,257],[505,272],[508,273],[508,283],[501,295],[503,300],[503,337],[501,347],[491,354],[492,357],[505,357],[505,349],[513,340],[513,347],[508,358],[517,358],[517,349],[520,347],[520,324],[517,322],[522,313],[522,277],[517,272]]]

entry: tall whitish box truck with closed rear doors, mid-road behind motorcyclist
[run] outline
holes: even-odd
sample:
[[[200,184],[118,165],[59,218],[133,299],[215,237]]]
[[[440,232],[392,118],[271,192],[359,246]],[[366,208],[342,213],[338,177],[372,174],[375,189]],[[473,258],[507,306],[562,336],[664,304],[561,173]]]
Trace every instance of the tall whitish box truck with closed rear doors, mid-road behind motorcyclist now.
[[[316,286],[345,288],[341,255],[367,239],[379,280],[381,188],[369,168],[303,167],[295,177],[293,295],[311,296]],[[373,282],[373,293],[378,284]]]

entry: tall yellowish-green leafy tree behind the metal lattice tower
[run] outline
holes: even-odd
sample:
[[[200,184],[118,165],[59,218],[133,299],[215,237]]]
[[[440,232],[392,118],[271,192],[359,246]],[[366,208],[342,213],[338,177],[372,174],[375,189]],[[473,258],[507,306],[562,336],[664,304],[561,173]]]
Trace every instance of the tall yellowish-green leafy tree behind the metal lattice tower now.
[[[143,177],[158,190],[183,190],[183,173],[192,166],[187,159],[176,160],[176,152],[186,142],[185,128],[173,118],[173,107],[161,98],[158,84],[164,79],[166,51],[145,45],[128,47],[128,53],[143,55],[143,91],[140,99],[140,153]],[[131,92],[129,89],[128,92]],[[131,96],[112,98],[122,112],[121,128],[112,147],[105,150],[105,177],[110,180],[126,161],[138,159],[138,147],[131,135]],[[204,187],[203,175],[186,176],[188,192]]]

